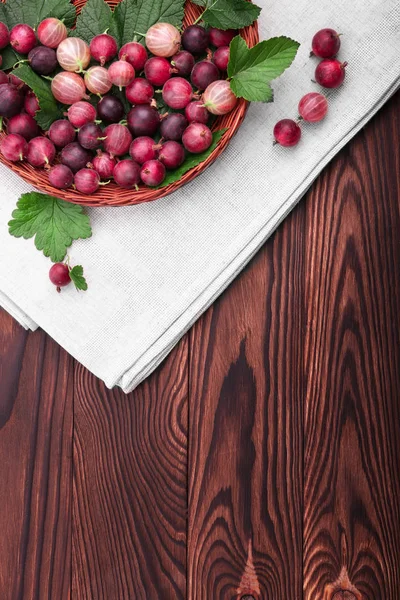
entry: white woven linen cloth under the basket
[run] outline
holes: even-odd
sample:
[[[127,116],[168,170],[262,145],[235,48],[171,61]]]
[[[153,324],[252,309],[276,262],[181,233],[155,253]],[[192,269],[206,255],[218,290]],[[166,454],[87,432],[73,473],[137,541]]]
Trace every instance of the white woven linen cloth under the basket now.
[[[46,330],[112,387],[132,390],[236,277],[332,157],[400,83],[398,0],[258,0],[262,38],[288,35],[302,46],[273,84],[275,103],[254,104],[227,151],[174,195],[126,208],[90,210],[91,240],[74,243],[89,291],[55,293],[48,259],[33,241],[10,237],[7,222],[29,186],[0,166],[0,305],[22,325]],[[345,85],[329,93],[330,112],[303,126],[300,145],[272,147],[274,123],[296,117],[318,89],[313,34],[334,27]],[[260,298],[260,301],[262,299]]]

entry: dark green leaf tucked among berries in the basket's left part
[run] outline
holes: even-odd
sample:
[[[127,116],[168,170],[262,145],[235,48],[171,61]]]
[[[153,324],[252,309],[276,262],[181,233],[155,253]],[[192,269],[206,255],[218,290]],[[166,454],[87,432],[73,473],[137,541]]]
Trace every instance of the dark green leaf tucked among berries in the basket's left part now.
[[[39,100],[40,110],[35,119],[39,126],[47,131],[50,125],[63,117],[63,109],[59,106],[51,93],[50,82],[37,75],[27,65],[21,65],[13,71],[14,75],[22,79],[33,90]]]

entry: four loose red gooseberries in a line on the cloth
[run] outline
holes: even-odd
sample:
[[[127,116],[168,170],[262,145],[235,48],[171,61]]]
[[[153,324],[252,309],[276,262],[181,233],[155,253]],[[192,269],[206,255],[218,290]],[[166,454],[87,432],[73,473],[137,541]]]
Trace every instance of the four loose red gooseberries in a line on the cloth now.
[[[313,37],[310,56],[322,59],[315,70],[315,82],[324,88],[338,88],[345,79],[347,62],[342,63],[336,58],[340,45],[340,34],[334,29],[321,29]],[[296,121],[282,119],[275,125],[275,144],[286,148],[297,146],[302,135],[301,121],[308,123],[322,121],[328,114],[328,100],[324,94],[310,92],[300,100],[298,111],[299,117]]]

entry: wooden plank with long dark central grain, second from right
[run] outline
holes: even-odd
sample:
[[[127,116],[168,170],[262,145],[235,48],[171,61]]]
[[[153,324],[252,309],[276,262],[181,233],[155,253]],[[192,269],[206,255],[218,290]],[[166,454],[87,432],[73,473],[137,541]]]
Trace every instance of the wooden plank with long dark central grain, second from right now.
[[[302,596],[304,219],[191,332],[190,600]]]

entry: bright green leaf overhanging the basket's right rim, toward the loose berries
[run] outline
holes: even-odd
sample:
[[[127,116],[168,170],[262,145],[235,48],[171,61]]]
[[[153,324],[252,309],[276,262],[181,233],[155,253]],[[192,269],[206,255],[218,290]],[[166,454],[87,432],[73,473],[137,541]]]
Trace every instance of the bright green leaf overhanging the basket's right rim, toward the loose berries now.
[[[228,77],[238,98],[251,102],[271,102],[269,82],[292,64],[300,44],[287,37],[272,38],[249,49],[239,35],[230,45]]]

